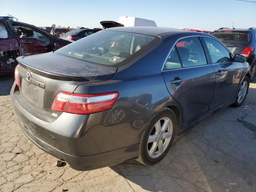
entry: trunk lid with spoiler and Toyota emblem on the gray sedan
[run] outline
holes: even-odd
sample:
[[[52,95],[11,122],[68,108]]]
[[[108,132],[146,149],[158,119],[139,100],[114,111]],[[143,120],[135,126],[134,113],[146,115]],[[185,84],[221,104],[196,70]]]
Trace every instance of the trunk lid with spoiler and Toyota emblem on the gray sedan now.
[[[51,109],[58,92],[72,93],[81,84],[109,80],[117,70],[52,52],[18,57],[17,61],[21,96],[34,108],[34,114],[53,118],[61,114]],[[47,119],[44,115],[38,118]]]

